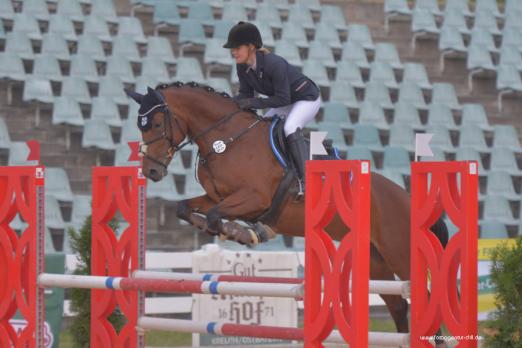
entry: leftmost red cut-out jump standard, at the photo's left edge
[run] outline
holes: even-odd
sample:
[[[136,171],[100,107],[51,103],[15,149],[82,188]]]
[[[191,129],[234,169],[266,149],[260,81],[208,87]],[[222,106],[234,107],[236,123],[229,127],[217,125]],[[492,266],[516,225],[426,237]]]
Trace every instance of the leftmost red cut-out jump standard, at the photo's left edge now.
[[[1,347],[44,346],[44,293],[36,284],[44,269],[44,198],[43,167],[0,169]],[[16,214],[28,225],[20,237],[9,226]],[[9,323],[17,309],[27,322],[19,333]]]

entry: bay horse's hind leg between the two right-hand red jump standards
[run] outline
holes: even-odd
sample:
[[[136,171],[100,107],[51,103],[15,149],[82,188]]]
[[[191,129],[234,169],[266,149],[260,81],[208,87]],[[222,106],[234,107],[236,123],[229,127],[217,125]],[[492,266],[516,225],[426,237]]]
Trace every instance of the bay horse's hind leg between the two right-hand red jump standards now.
[[[371,246],[370,257],[370,279],[373,280],[395,280],[393,272],[384,262],[377,249]],[[409,332],[408,326],[408,302],[398,295],[379,295],[393,318],[397,332]]]

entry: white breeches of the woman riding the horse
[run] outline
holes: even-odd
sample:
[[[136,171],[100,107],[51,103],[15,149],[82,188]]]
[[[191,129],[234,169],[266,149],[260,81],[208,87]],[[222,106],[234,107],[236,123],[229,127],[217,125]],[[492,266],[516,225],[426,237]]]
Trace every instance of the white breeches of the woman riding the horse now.
[[[263,117],[278,115],[285,118],[285,135],[289,136],[297,128],[303,129],[308,122],[314,119],[321,107],[321,102],[320,96],[316,100],[300,100],[290,105],[269,109]]]

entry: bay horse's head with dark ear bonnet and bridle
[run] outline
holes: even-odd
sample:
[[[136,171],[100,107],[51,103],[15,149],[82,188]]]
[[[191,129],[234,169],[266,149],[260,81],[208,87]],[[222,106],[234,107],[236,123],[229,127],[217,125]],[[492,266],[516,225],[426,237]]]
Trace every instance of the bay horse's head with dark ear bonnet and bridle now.
[[[185,127],[170,111],[159,91],[149,87],[147,94],[143,95],[129,90],[125,92],[140,105],[138,128],[143,139],[140,144],[143,174],[152,181],[159,181],[167,175],[167,166],[185,138]]]

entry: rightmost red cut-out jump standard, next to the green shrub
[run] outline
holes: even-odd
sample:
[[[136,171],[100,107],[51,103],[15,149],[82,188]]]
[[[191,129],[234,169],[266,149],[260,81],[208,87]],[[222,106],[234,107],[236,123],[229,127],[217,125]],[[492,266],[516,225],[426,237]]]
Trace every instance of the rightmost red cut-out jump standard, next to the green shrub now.
[[[411,187],[411,346],[431,347],[423,336],[444,322],[477,347],[477,162],[413,163]],[[445,249],[430,231],[443,211],[459,229]]]

